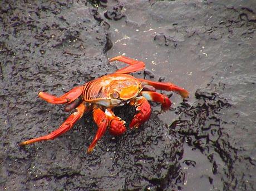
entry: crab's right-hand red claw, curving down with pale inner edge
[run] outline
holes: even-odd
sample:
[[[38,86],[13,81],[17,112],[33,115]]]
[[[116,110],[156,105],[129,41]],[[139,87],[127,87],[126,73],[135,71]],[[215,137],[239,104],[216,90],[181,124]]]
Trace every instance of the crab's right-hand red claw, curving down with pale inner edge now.
[[[129,127],[138,128],[142,123],[149,119],[151,114],[151,107],[144,97],[136,97],[134,102],[130,102],[131,105],[135,105],[137,113],[134,115]]]

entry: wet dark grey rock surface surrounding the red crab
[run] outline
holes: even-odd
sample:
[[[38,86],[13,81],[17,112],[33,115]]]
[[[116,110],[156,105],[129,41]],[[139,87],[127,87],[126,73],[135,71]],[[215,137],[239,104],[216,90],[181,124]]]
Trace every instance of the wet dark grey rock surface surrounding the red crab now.
[[[0,188],[6,190],[255,190],[254,1],[50,1],[0,4]],[[172,81],[188,100],[121,137],[106,133],[92,154],[90,113],[56,129],[60,95],[112,73],[107,57],[146,62],[135,74]],[[131,121],[134,108],[115,109]]]

